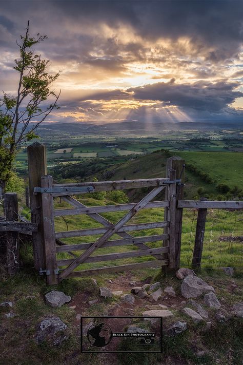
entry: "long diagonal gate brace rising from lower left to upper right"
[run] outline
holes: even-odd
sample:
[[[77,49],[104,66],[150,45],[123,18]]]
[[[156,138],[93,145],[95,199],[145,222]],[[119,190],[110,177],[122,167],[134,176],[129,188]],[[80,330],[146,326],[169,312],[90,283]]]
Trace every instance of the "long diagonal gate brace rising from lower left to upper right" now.
[[[156,197],[160,193],[161,190],[164,189],[165,186],[155,187],[144,199],[138,202],[134,208],[130,210],[122,219],[119,220],[112,228],[108,228],[107,232],[98,239],[91,247],[89,247],[82,255],[80,255],[71,265],[69,265],[63,272],[58,276],[58,280],[62,280],[66,278],[75,267],[77,267],[80,263],[84,262],[84,260],[89,257],[96,248],[102,246],[112,235],[114,235],[117,230],[122,228],[136,213],[138,213],[141,209],[147,205],[147,203]]]

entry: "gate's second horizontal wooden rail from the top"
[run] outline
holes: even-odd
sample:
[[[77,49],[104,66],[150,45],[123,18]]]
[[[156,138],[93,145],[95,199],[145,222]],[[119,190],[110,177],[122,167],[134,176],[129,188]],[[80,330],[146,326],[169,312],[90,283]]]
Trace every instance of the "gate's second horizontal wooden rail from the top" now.
[[[106,212],[122,212],[123,210],[132,209],[137,203],[129,204],[117,204],[117,205],[102,205],[102,206],[88,206],[85,208],[75,209],[55,209],[54,216],[73,216],[76,214],[94,214],[94,213],[106,213]],[[168,200],[161,200],[156,202],[149,202],[145,208],[163,208],[168,207]]]

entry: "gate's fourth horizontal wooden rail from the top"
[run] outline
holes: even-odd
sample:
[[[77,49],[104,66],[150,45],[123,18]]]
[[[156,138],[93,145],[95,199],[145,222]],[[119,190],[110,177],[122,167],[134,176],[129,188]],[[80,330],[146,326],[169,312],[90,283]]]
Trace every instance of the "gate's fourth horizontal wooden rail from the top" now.
[[[169,235],[155,235],[155,236],[146,236],[146,237],[136,237],[136,238],[124,238],[122,240],[112,240],[107,241],[102,245],[103,247],[113,247],[113,246],[124,246],[124,245],[132,245],[139,244],[145,242],[156,242],[167,240]],[[65,251],[80,251],[82,249],[87,249],[91,247],[94,242],[91,243],[76,243],[67,246],[56,246],[56,252],[65,252]]]

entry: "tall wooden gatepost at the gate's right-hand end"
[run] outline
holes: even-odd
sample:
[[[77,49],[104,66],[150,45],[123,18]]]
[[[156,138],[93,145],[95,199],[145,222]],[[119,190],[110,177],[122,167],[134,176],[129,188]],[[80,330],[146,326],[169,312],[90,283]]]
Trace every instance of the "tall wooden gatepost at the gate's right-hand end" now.
[[[169,170],[175,170],[175,178],[181,179],[181,183],[185,182],[185,169],[184,169],[185,161],[182,160],[179,156],[173,156],[167,159],[166,166],[166,177],[169,178]],[[169,200],[169,186],[167,189],[167,200]],[[177,208],[177,201],[183,200],[184,197],[184,185],[177,184],[176,187],[176,208],[175,208],[175,269],[180,267],[180,246],[181,246],[181,229],[182,229],[182,221],[183,221],[183,208]],[[165,221],[168,220],[169,212],[168,208],[165,208]],[[165,228],[165,233],[169,233],[169,227]],[[167,245],[167,242],[164,242]]]

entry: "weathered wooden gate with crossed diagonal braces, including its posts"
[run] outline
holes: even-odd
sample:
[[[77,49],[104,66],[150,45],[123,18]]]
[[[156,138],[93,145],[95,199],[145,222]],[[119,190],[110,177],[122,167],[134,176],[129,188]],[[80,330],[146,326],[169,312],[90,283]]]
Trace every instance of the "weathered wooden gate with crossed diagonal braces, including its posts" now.
[[[40,144],[34,144],[28,147],[28,153],[33,152],[38,156],[43,156],[43,163],[46,164],[45,147]],[[36,153],[38,151],[38,153]],[[176,220],[179,217],[179,209],[176,207],[177,195],[181,197],[182,187],[178,179],[178,171],[181,167],[181,160],[178,158],[168,159],[168,176],[159,179],[140,179],[140,180],[122,180],[122,181],[103,181],[75,184],[53,184],[51,176],[45,175],[40,177],[40,186],[33,186],[30,183],[31,210],[40,209],[37,214],[39,230],[34,237],[34,250],[36,268],[40,274],[45,273],[48,284],[56,284],[67,277],[77,277],[91,274],[101,274],[107,272],[121,272],[134,270],[135,268],[144,268],[152,266],[167,266],[170,269],[177,268],[178,262],[178,245],[180,244],[180,232],[176,228]],[[173,167],[173,168],[170,168]],[[41,170],[45,170],[42,168]],[[29,165],[30,179],[36,171],[33,166]],[[180,189],[178,189],[180,186]],[[32,191],[31,191],[32,187]],[[106,206],[86,206],[76,200],[73,195],[87,194],[96,191],[124,190],[131,188],[151,187],[151,191],[145,198],[138,203],[106,205]],[[166,188],[165,201],[152,201],[163,189]],[[33,195],[33,196],[32,196]],[[53,198],[60,197],[69,203],[72,208],[54,209]],[[36,207],[36,204],[40,207]],[[161,222],[127,224],[143,208],[165,208],[165,220]],[[102,213],[128,211],[122,219],[113,224],[104,218]],[[55,232],[54,218],[67,215],[86,214],[96,222],[101,223],[101,228],[67,230],[64,232]],[[32,214],[34,223],[36,215]],[[130,233],[138,230],[164,228],[164,233],[160,235],[134,237]],[[130,233],[129,233],[130,232]],[[121,239],[111,239],[116,234]],[[62,238],[80,237],[80,236],[102,235],[92,243],[64,244]],[[163,241],[158,248],[151,248],[148,243]],[[42,244],[40,244],[40,242]],[[59,244],[57,245],[56,242]],[[61,244],[61,245],[60,245]],[[93,256],[95,250],[100,247],[126,246],[135,245],[136,250],[111,253],[105,255]],[[80,256],[72,259],[57,260],[56,254],[59,252],[83,251]],[[92,255],[92,256],[91,256]],[[74,271],[77,266],[83,263],[108,261],[116,259],[125,259],[131,257],[152,256],[149,261],[124,264],[111,267],[93,268],[91,270]],[[63,268],[66,266],[65,268]],[[60,268],[61,267],[61,268]]]

